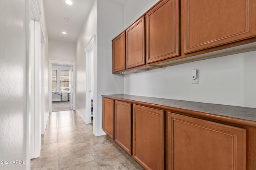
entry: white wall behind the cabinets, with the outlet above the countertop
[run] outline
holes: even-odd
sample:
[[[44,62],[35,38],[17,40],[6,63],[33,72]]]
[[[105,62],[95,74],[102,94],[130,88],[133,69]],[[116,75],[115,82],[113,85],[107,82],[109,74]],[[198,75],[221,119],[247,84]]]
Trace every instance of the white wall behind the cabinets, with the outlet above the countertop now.
[[[128,0],[124,25],[139,18],[147,2]],[[256,108],[255,56],[251,51],[125,75],[124,94]],[[198,84],[191,84],[192,69],[198,69]]]

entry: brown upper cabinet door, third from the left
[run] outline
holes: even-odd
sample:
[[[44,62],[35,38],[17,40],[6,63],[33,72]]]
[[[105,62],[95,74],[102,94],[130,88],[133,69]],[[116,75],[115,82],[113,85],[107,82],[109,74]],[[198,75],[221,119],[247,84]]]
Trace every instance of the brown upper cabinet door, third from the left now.
[[[179,55],[179,0],[163,0],[146,13],[146,63]]]

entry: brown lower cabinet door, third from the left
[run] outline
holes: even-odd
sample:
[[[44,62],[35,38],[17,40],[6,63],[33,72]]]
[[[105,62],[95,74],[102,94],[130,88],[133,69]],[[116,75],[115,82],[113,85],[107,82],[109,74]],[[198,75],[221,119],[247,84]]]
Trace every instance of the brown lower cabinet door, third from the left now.
[[[164,111],[134,105],[133,157],[145,169],[164,169]]]

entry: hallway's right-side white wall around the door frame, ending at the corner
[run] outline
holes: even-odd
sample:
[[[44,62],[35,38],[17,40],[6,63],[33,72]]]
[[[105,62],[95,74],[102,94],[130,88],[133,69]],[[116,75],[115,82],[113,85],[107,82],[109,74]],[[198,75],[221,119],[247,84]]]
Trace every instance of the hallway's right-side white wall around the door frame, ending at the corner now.
[[[85,119],[86,96],[86,58],[84,47],[92,36],[97,33],[97,1],[92,8],[76,41],[76,111]]]

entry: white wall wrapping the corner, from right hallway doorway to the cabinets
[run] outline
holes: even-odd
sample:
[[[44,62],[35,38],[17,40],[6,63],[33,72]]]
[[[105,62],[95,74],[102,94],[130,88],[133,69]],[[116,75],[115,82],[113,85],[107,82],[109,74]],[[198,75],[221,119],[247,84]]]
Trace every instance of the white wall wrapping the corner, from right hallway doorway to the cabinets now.
[[[84,48],[96,35],[94,135],[102,135],[102,94],[122,94],[124,78],[112,74],[112,39],[123,28],[123,6],[110,0],[95,0],[76,42],[76,111],[85,117],[86,58]]]

